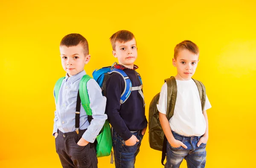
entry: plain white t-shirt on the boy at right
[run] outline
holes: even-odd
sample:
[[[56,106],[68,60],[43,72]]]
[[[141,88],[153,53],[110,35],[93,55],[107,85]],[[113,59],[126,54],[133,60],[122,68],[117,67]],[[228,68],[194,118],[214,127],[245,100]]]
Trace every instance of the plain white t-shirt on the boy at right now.
[[[206,130],[206,121],[202,112],[201,100],[193,79],[177,82],[177,98],[174,114],[169,120],[172,131],[184,136],[201,136]],[[204,110],[211,108],[206,96]],[[167,84],[163,84],[160,92],[159,112],[166,114],[167,109]]]

